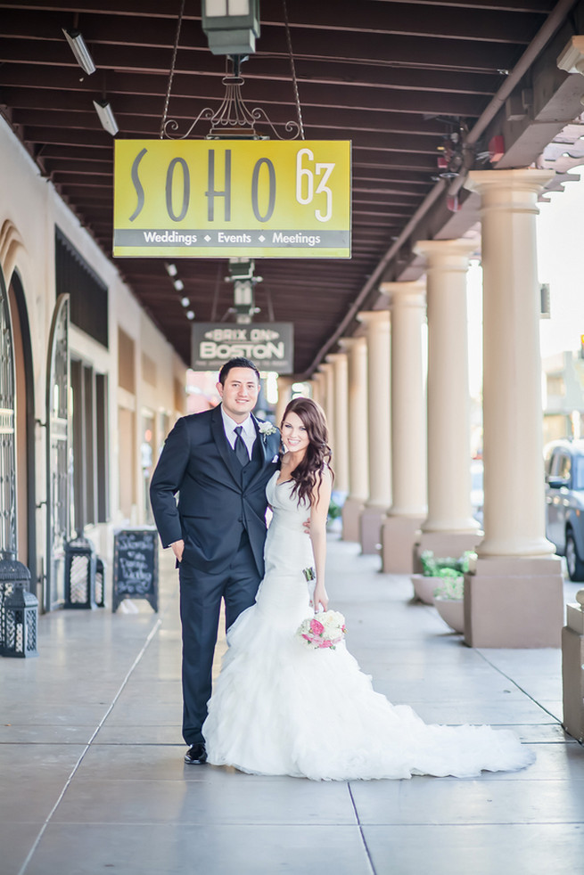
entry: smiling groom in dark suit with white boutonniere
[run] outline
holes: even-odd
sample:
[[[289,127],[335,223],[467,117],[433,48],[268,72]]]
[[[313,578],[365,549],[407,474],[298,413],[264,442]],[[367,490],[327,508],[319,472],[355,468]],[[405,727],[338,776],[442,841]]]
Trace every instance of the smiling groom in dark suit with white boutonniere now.
[[[279,431],[251,415],[259,395],[255,364],[231,359],[217,389],[218,407],[177,421],[150,487],[162,546],[172,547],[179,568],[189,765],[207,759],[202,724],[221,599],[229,628],[255,601],[264,574],[266,485],[279,460]]]

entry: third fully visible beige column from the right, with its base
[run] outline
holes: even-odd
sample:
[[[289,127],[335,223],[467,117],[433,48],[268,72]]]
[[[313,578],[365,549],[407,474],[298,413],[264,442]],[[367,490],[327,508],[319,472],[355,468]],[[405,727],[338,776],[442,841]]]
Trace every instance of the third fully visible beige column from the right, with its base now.
[[[391,310],[391,484],[382,527],[382,570],[414,570],[417,532],[426,516],[426,416],[422,358],[423,281],[383,282]]]

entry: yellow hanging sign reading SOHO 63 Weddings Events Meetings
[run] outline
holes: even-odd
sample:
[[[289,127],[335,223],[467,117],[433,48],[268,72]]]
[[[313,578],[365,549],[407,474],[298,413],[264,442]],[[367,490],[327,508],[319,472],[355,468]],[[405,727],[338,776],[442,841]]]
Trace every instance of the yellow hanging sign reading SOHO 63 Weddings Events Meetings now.
[[[116,140],[116,258],[350,258],[350,142]]]

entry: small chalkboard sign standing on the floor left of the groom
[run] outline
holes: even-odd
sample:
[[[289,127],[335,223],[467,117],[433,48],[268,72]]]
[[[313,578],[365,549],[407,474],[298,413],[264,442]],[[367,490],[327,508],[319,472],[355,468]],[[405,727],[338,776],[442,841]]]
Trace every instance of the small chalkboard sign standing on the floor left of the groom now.
[[[124,528],[113,536],[111,610],[124,599],[145,599],[158,611],[158,532]]]

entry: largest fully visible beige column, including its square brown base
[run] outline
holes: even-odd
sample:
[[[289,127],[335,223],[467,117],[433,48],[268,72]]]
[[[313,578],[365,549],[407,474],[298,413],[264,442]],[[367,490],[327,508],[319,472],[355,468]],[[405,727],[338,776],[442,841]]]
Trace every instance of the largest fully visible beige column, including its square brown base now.
[[[482,198],[484,539],[465,581],[465,641],[557,647],[560,560],[545,536],[537,200],[549,170],[473,171]]]

